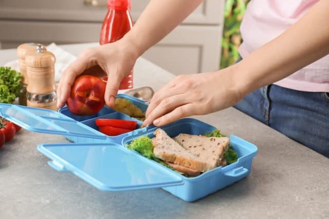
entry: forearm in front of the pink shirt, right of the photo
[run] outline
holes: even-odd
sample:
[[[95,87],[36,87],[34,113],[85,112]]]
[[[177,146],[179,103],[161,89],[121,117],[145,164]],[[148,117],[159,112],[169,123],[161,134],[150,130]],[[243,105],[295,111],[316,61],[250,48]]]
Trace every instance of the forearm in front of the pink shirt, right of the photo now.
[[[322,0],[297,23],[232,66],[242,95],[279,81],[329,53],[329,1]]]

